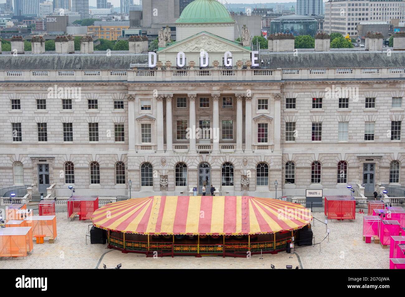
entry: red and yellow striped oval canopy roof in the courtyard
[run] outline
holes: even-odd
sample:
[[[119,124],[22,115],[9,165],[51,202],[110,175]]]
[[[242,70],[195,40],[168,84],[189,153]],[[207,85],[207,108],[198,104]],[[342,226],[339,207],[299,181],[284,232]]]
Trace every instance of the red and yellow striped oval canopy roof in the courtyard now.
[[[310,223],[301,204],[250,196],[151,196],[107,204],[91,219],[105,230],[135,234],[245,235],[295,230]]]

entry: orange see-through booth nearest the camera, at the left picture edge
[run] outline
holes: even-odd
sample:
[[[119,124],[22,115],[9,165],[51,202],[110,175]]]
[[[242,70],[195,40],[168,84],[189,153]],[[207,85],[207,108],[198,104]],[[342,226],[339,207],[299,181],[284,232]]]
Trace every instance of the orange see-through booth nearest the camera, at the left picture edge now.
[[[25,257],[32,249],[31,227],[0,228],[0,257]]]

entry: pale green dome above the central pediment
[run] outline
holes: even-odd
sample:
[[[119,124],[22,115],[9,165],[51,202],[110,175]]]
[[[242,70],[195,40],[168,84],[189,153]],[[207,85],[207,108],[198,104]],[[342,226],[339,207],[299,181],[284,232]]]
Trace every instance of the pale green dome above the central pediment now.
[[[217,0],[194,0],[188,4],[176,23],[233,23],[226,7]]]

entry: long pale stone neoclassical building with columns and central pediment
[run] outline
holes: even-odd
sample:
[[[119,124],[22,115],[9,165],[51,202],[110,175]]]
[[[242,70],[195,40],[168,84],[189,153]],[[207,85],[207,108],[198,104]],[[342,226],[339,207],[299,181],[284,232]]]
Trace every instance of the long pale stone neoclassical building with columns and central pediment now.
[[[0,187],[116,196],[131,180],[132,197],[204,184],[275,197],[276,180],[277,196],[404,185],[405,52],[330,51],[322,38],[297,52],[283,38],[258,67],[215,30],[160,48],[152,68],[147,53],[2,53]]]

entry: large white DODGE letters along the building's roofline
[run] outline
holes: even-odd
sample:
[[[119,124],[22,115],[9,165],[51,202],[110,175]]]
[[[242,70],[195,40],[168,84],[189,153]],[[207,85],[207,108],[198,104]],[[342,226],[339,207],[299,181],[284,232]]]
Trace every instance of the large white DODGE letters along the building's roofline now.
[[[258,67],[259,65],[259,52],[252,51],[252,67]],[[148,54],[148,64],[150,68],[156,67],[156,62],[158,61],[158,55],[155,52],[149,52]],[[227,51],[224,53],[224,64],[226,67],[232,66],[232,53]],[[176,59],[177,67],[184,67],[185,66],[185,53],[179,52],[177,53]],[[209,54],[205,51],[200,52],[200,67],[208,67],[209,66]]]

